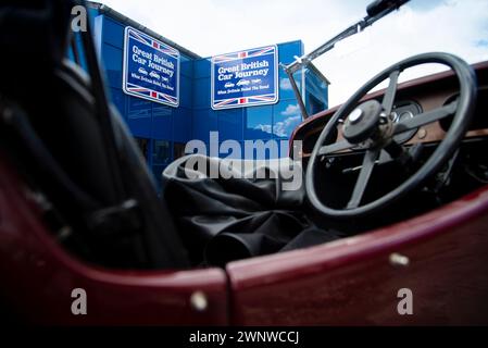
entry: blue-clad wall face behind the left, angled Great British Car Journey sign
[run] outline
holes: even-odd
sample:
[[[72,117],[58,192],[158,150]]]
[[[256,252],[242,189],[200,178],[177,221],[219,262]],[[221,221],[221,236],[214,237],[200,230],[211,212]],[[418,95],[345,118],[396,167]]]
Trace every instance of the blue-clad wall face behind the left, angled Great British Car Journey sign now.
[[[95,18],[95,36],[107,73],[112,102],[136,138],[148,139],[146,160],[157,177],[171,163],[175,147],[186,144],[192,135],[193,60],[180,54],[179,107],[172,108],[127,96],[122,90],[125,25],[101,14]]]

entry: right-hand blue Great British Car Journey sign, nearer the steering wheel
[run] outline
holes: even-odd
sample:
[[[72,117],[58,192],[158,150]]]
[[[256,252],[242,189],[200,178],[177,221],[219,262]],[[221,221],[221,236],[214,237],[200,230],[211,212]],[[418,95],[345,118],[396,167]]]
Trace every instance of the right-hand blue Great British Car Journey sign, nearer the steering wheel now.
[[[277,65],[276,46],[212,57],[212,109],[276,103]]]

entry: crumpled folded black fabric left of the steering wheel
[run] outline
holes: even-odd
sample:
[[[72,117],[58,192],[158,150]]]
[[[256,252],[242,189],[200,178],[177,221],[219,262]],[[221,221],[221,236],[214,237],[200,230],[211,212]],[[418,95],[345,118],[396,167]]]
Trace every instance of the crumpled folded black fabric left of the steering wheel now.
[[[224,266],[227,262],[335,240],[340,234],[316,227],[306,216],[304,187],[284,190],[279,169],[260,167],[255,175],[188,178],[188,159],[163,173],[164,199],[172,210],[195,264]],[[220,165],[205,159],[207,169]],[[276,172],[275,175],[270,175]],[[195,174],[195,173],[192,173]]]

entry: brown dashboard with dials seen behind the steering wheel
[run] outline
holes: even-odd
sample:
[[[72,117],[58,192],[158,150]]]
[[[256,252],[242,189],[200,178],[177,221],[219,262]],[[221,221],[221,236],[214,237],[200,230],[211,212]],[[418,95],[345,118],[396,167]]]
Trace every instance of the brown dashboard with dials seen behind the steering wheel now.
[[[488,62],[473,66],[478,79],[478,97],[474,122],[471,124],[465,139],[488,136]],[[383,95],[384,90],[378,90],[367,95],[363,101],[376,99],[380,102]],[[423,112],[453,101],[458,95],[458,80],[452,72],[443,72],[399,84],[392,111],[393,122],[422,116]],[[292,151],[299,151],[299,158],[306,159],[310,157],[326,122],[337,110],[338,107],[309,117],[295,130],[291,140],[302,140],[301,151],[299,148],[292,148]],[[411,132],[399,134],[395,137],[395,140],[403,145],[438,142],[446,136],[451,121],[452,116],[441,122],[427,124]],[[330,137],[326,139],[326,142],[333,144],[342,140],[342,138],[341,125],[339,124],[336,132],[331,132]],[[345,150],[343,152],[351,151],[354,150]]]

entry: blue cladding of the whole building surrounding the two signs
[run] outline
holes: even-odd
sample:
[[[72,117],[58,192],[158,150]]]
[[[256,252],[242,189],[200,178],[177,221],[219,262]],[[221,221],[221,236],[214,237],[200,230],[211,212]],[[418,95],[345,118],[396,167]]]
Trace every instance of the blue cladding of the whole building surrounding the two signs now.
[[[211,108],[211,58],[196,58],[180,52],[180,85],[178,108],[167,107],[124,94],[123,49],[127,24],[110,12],[90,12],[97,49],[105,70],[108,90],[136,138],[146,139],[145,153],[153,173],[160,173],[167,163],[182,154],[182,148],[191,139],[209,142],[209,133],[218,130],[220,141],[287,140],[300,123],[297,99],[288,77],[279,69],[279,100],[272,105],[214,111]],[[278,59],[288,64],[303,54],[301,40],[278,44]],[[248,49],[248,48],[242,48]],[[223,53],[223,52],[215,52]],[[310,72],[296,75],[298,86],[304,89],[309,112],[327,109],[327,84]],[[304,83],[304,88],[302,88]],[[313,101],[313,102],[312,102]],[[317,109],[318,108],[318,109]],[[164,140],[164,141],[161,141]],[[286,141],[284,141],[286,142]],[[162,150],[161,147],[165,147]],[[163,162],[154,161],[166,156]],[[287,156],[279,153],[279,156]],[[225,154],[224,154],[225,156]],[[162,164],[163,163],[163,164]]]

